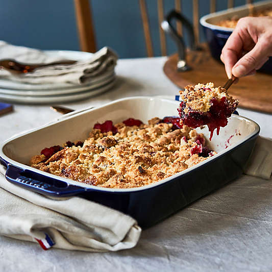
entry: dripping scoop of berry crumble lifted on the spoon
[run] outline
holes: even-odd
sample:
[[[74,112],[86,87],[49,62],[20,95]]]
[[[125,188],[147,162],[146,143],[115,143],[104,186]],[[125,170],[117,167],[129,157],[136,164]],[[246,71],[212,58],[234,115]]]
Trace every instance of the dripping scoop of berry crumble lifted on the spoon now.
[[[181,123],[190,128],[207,125],[210,140],[213,131],[227,126],[228,117],[235,111],[238,101],[234,100],[224,88],[215,88],[213,83],[188,85],[180,91],[182,102],[178,109]]]

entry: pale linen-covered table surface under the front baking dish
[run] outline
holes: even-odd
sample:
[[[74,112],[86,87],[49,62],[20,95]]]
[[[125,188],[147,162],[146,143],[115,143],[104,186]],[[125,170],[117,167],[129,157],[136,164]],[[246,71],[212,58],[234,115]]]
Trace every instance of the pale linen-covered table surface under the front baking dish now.
[[[174,95],[178,88],[164,75],[165,57],[121,59],[118,82],[107,93],[66,107],[98,106],[135,95]],[[223,83],[222,83],[223,84]],[[271,137],[272,115],[238,109]],[[48,106],[14,105],[0,117],[0,141],[59,117]],[[0,196],[1,197],[1,196]],[[250,176],[213,192],[160,224],[144,230],[134,249],[84,253],[51,249],[0,236],[1,271],[271,271],[272,183]]]

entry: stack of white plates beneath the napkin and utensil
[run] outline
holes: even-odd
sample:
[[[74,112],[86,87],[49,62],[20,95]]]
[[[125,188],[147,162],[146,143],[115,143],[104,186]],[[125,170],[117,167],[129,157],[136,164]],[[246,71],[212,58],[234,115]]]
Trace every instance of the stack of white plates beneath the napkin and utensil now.
[[[69,60],[86,60],[92,55],[79,51],[45,51],[45,53]],[[109,90],[113,87],[115,80],[114,69],[97,76],[90,83],[73,86],[68,83],[25,84],[0,79],[0,101],[24,104],[73,102]]]

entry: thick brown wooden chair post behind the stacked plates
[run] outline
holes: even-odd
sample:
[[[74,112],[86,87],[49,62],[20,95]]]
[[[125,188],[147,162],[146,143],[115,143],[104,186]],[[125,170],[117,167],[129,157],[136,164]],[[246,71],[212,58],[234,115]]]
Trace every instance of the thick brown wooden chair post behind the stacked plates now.
[[[80,47],[85,52],[96,52],[91,10],[88,0],[74,0]]]

